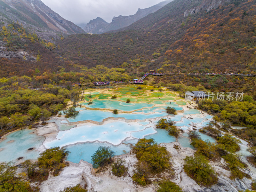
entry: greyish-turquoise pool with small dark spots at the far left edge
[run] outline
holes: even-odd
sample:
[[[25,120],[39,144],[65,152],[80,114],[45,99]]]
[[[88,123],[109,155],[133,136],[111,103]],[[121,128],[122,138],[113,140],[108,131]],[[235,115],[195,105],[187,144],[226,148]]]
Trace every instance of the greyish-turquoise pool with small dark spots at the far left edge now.
[[[22,160],[36,159],[39,156],[37,149],[43,144],[44,136],[37,136],[32,133],[33,129],[23,129],[12,132],[6,136],[6,140],[0,142],[0,162],[14,161],[18,162],[17,158],[23,157]],[[14,140],[11,143],[8,141]],[[34,150],[28,151],[29,148]]]

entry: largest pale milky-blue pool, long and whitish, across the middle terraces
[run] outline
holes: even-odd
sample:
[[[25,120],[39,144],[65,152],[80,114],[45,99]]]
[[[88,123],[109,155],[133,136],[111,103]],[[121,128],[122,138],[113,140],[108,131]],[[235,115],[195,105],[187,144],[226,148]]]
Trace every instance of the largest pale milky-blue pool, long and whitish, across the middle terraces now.
[[[82,125],[68,131],[59,132],[56,140],[48,142],[44,146],[46,148],[57,146],[64,147],[67,145],[88,141],[109,142],[114,145],[118,145],[122,142],[122,140],[130,137],[131,134],[136,134],[138,131],[144,130],[145,128],[145,126],[140,124],[129,124],[121,121],[103,125]],[[140,131],[138,133],[140,134],[141,132],[144,131]],[[155,130],[153,127],[147,128],[145,131],[146,134],[152,134],[154,132]]]

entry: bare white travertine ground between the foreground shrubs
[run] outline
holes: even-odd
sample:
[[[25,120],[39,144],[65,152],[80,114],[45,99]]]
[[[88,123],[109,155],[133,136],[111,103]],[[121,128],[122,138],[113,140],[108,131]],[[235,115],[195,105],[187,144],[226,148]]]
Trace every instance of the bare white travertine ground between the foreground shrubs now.
[[[189,108],[194,108],[196,105],[194,103],[187,104],[187,107],[184,106],[185,110]],[[188,108],[189,107],[189,108]],[[198,114],[196,114],[198,116]],[[206,116],[206,113],[201,113],[200,117]],[[194,115],[186,115],[186,118],[191,118]],[[113,120],[109,120],[113,121]],[[88,123],[86,123],[88,124]],[[90,124],[90,123],[89,123]],[[189,128],[192,130],[192,126]],[[44,127],[36,129],[38,135],[44,135],[45,141],[50,142],[56,139],[59,129],[56,124],[50,123]],[[174,149],[173,146],[179,145],[179,149]],[[196,192],[238,192],[238,190],[245,190],[250,188],[252,180],[256,179],[256,168],[252,166],[246,158],[243,158],[243,161],[247,164],[247,168],[243,171],[249,174],[252,177],[252,180],[244,178],[243,180],[230,180],[230,171],[225,164],[224,159],[221,159],[217,162],[210,162],[218,173],[219,182],[218,184],[212,186],[211,188],[204,188],[196,184],[196,182],[187,176],[183,170],[184,158],[186,156],[193,156],[195,150],[191,148],[182,148],[178,142],[173,143],[163,143],[162,146],[166,147],[167,150],[172,154],[172,167],[173,167],[173,176],[169,178],[180,187],[182,187],[184,192],[196,191]],[[244,147],[246,147],[247,142],[243,142]],[[45,150],[42,146],[40,151]],[[125,154],[119,156],[126,161],[126,167],[128,168],[128,176],[126,177],[116,177],[111,172],[111,167],[108,166],[107,170],[103,172],[95,173],[95,170],[92,169],[92,164],[89,164],[84,161],[80,161],[79,164],[71,163],[70,166],[65,167],[59,176],[52,177],[50,176],[48,180],[43,181],[40,185],[40,192],[59,192],[65,187],[75,186],[81,184],[81,186],[86,185],[89,192],[154,192],[156,191],[156,186],[154,181],[157,181],[157,176],[151,178],[152,184],[142,187],[137,185],[132,180],[133,175],[133,166],[137,162],[135,156],[130,154]],[[20,170],[22,171],[22,170]],[[166,175],[168,177],[168,174]]]

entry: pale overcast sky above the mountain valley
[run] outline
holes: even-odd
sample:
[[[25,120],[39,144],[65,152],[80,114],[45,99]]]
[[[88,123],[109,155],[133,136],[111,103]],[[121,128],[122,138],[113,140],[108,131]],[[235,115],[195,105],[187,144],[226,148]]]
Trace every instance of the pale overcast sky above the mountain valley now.
[[[111,22],[114,16],[133,15],[164,0],[41,0],[66,20],[88,23],[96,17]]]

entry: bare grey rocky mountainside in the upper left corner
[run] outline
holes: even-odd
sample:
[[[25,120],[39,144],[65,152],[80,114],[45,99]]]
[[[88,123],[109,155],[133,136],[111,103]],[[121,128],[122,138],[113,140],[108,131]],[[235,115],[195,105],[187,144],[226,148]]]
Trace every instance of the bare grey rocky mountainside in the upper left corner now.
[[[0,0],[0,19],[5,23],[18,21],[31,31],[85,33],[74,23],[63,19],[40,0]],[[41,34],[43,36],[43,34]]]

